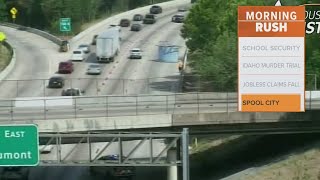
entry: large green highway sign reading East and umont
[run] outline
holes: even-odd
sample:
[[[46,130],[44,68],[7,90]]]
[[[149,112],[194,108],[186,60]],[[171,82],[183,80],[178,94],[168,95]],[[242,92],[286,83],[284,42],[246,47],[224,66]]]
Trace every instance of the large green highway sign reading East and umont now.
[[[0,166],[37,166],[39,156],[37,126],[0,125]]]

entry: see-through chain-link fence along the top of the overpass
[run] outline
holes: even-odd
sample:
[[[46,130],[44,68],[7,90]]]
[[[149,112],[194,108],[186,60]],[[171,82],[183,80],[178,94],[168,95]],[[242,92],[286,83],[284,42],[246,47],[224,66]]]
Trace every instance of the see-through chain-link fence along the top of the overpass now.
[[[317,77],[307,75],[306,90],[317,90]],[[147,79],[66,78],[64,86],[49,88],[48,79],[3,80],[0,98],[61,96],[66,88],[85,90],[85,96],[167,94],[180,92],[237,92],[230,85],[213,81],[213,77],[175,75]]]

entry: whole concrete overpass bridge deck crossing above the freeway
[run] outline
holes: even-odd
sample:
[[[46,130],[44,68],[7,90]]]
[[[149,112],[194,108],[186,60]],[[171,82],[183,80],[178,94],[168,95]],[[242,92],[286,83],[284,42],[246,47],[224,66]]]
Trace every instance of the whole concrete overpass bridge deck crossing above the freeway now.
[[[306,91],[306,109],[320,109],[319,91]],[[300,115],[306,113],[289,117],[290,114],[294,113],[237,112],[237,93],[216,92],[32,97],[0,101],[0,123],[33,123],[38,125],[40,132],[276,124],[280,121],[301,121]]]

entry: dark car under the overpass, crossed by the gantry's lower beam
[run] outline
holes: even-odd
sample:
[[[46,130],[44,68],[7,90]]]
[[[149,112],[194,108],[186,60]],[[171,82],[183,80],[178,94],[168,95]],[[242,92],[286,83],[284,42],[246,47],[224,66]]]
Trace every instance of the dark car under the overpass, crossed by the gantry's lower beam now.
[[[125,159],[123,157],[122,159]],[[119,155],[107,155],[102,156],[98,161],[106,161],[106,163],[118,163]],[[107,166],[90,166],[91,174],[100,174],[107,176],[110,179],[113,177],[132,179],[136,174],[136,169],[134,166],[117,166],[117,167],[107,167]]]

